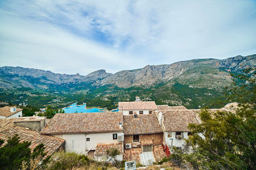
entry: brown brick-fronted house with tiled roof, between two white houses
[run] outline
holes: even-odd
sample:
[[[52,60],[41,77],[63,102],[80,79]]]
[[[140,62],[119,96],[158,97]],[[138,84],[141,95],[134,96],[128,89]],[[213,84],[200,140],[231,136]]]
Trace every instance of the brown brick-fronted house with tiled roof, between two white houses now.
[[[166,156],[162,144],[163,130],[156,115],[124,115],[125,160],[143,165],[159,161]]]

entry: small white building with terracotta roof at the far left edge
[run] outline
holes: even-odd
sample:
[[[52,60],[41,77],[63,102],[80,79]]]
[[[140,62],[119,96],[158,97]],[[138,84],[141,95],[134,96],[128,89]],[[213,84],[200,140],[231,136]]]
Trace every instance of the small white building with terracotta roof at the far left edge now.
[[[0,118],[22,117],[22,109],[10,106],[0,108]]]

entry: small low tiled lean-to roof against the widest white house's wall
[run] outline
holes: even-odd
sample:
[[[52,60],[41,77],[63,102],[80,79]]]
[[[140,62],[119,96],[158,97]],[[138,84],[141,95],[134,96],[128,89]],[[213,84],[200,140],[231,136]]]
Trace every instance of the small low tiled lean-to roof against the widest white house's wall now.
[[[95,154],[94,155],[106,155],[106,150],[111,150],[113,148],[116,148],[120,154],[123,153],[123,143],[117,142],[117,143],[99,143],[96,146]]]

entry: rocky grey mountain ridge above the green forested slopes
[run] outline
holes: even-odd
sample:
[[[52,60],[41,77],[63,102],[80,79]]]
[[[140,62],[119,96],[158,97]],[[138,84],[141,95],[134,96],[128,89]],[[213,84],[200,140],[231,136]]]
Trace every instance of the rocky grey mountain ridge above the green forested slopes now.
[[[198,77],[207,79],[207,76],[211,76],[216,80],[224,81],[226,79],[230,81],[229,73],[232,71],[241,72],[244,68],[252,66],[256,66],[256,55],[248,55],[246,57],[237,55],[236,57],[229,57],[223,60],[212,58],[184,60],[172,64],[147,65],[140,69],[122,70],[114,74],[100,69],[85,76],[78,73],[61,74],[42,69],[4,66],[0,67],[0,87],[6,89],[13,87],[49,88],[50,85],[65,86],[82,83],[96,87],[115,85],[122,88],[148,88],[161,81],[168,83],[171,80],[178,81],[179,83],[185,83],[188,80],[190,85],[202,87],[200,83],[197,85],[196,83],[191,84],[191,78],[197,80]],[[198,76],[199,73],[200,75]],[[207,74],[207,76],[204,74]],[[196,82],[198,83],[198,81]],[[220,83],[216,83],[216,85],[220,85]],[[214,87],[214,85],[208,86]]]

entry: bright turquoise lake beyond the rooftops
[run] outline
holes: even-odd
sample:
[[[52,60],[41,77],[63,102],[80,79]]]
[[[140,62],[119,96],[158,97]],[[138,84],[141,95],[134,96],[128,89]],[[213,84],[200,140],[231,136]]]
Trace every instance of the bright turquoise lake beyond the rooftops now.
[[[77,106],[76,103],[71,104],[70,107],[65,108],[64,111],[65,113],[92,113],[92,112],[103,112],[104,109],[99,109],[99,108],[91,108],[91,109],[86,109],[86,104]]]

